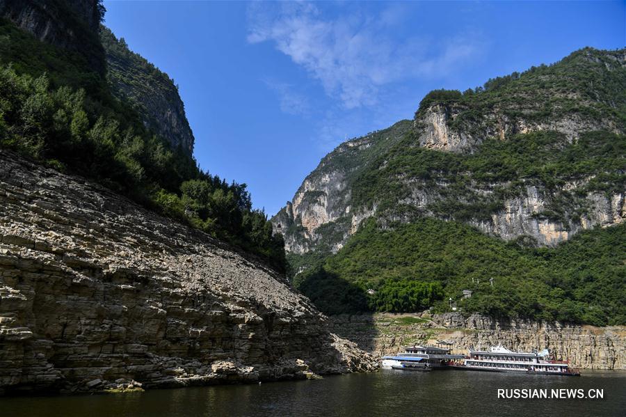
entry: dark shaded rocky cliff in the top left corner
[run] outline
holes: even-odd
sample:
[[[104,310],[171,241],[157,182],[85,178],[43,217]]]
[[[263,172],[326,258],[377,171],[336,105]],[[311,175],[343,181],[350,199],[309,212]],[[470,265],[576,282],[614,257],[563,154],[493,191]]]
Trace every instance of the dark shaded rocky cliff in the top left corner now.
[[[97,0],[0,0],[0,17],[42,42],[79,52],[104,74],[104,51],[97,42],[100,13]]]

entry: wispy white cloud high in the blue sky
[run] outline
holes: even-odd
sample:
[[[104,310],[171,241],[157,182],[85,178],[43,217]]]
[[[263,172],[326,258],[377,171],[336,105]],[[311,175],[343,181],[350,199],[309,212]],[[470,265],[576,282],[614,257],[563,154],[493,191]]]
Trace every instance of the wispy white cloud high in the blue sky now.
[[[325,18],[312,3],[252,3],[248,42],[275,47],[319,80],[344,109],[380,102],[385,85],[417,77],[442,77],[479,52],[472,37],[447,40],[410,38],[392,33],[403,10],[390,6],[377,16],[358,8]]]

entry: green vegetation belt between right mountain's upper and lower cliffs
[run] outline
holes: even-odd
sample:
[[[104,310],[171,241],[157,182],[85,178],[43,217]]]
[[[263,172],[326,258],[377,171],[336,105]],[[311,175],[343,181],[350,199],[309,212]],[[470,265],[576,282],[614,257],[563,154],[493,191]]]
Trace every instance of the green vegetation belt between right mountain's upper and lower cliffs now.
[[[440,152],[415,145],[413,133],[399,141],[371,168],[353,180],[355,207],[378,203],[379,210],[398,210],[397,201],[410,196],[406,178],[439,198],[426,207],[445,219],[488,220],[503,208],[507,196],[517,196],[524,187],[547,190],[549,205],[538,217],[579,221],[584,214],[581,200],[591,191],[626,188],[626,136],[610,132],[585,132],[574,143],[556,132],[517,134],[506,141],[486,139],[472,154]],[[591,180],[587,180],[591,178]],[[567,182],[583,183],[572,191]],[[476,188],[489,189],[483,194]],[[572,209],[572,207],[574,207]]]

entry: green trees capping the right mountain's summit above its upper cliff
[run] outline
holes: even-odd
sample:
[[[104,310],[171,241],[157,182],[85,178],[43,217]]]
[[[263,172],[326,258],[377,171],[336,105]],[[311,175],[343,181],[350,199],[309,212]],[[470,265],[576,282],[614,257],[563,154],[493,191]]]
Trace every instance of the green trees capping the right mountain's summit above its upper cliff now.
[[[623,54],[623,51],[618,54]],[[495,109],[508,120],[542,122],[561,116],[613,120],[626,127],[626,77],[617,59],[593,48],[579,49],[553,65],[540,65],[459,91],[437,90],[424,97],[416,116],[431,104],[459,109],[450,127],[479,133]]]

